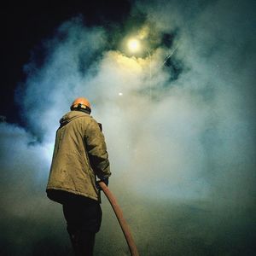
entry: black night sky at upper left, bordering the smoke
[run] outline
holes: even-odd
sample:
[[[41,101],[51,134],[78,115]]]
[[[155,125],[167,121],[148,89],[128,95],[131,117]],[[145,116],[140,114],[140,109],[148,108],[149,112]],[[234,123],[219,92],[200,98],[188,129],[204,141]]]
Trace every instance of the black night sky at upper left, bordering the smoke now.
[[[129,15],[130,1],[31,1],[1,8],[1,115],[9,122],[22,123],[19,107],[14,103],[17,84],[26,79],[23,66],[42,39],[53,36],[56,27],[77,15],[87,26],[109,27]],[[44,54],[42,56],[44,58]]]

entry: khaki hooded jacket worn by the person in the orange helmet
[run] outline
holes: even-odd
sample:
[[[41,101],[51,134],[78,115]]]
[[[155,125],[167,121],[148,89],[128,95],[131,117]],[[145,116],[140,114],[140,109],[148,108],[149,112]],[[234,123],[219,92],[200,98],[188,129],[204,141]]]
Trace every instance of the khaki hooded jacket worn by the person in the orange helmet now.
[[[89,114],[80,111],[66,113],[60,123],[56,131],[47,194],[51,200],[61,203],[60,191],[98,200],[96,176],[102,179],[111,175],[106,143],[99,124]]]

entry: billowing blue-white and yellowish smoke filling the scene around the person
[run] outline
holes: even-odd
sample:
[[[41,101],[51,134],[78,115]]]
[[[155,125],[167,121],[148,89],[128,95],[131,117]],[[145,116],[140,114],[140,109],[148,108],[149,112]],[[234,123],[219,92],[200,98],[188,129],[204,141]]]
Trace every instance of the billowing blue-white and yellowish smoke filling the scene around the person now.
[[[110,188],[142,255],[253,254],[255,4],[166,2],[134,3],[131,16],[146,17],[138,34],[158,38],[150,55],[107,50],[108,31],[78,17],[26,64],[26,130],[1,124],[3,254],[70,255],[44,189],[58,120],[77,96],[103,125]],[[104,198],[102,208],[96,255],[129,255]]]

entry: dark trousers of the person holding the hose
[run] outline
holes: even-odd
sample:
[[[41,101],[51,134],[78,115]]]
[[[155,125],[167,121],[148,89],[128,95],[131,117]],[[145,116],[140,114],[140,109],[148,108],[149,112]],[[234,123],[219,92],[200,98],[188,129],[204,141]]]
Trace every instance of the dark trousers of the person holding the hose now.
[[[67,232],[76,256],[92,256],[96,232],[102,223],[102,209],[98,201],[79,198],[63,204]]]

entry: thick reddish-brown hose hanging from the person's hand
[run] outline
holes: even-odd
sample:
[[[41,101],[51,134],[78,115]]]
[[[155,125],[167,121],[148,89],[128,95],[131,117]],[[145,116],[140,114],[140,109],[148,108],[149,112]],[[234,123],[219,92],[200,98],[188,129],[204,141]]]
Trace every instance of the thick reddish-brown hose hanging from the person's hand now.
[[[119,221],[121,229],[123,230],[123,233],[125,235],[125,240],[127,241],[131,256],[139,256],[139,253],[137,252],[136,244],[133,241],[133,238],[131,236],[131,231],[129,229],[129,226],[125,221],[123,212],[119,207],[115,197],[113,196],[112,192],[108,189],[105,183],[100,182],[99,185],[101,186],[104,194],[107,196],[108,201],[110,202],[111,207],[113,208],[113,212],[115,213],[115,216]]]

